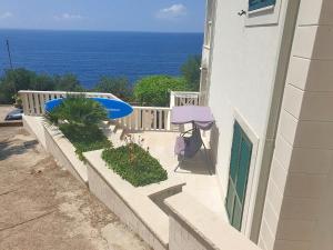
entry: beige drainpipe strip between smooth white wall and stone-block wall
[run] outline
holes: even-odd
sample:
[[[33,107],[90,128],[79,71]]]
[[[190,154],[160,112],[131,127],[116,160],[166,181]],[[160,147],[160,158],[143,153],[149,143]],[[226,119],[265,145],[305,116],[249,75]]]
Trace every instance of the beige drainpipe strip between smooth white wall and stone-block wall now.
[[[250,239],[253,242],[259,241],[262,212],[266,196],[266,187],[269,182],[271,162],[275,148],[275,139],[278,124],[280,119],[280,110],[282,106],[283,92],[286,81],[286,73],[289,69],[290,56],[295,33],[296,20],[299,16],[301,0],[289,0],[286,7],[285,22],[283,27],[283,33],[281,37],[281,49],[276,62],[276,72],[274,79],[274,87],[271,93],[271,109],[269,111],[268,127],[265,132],[265,141],[263,147],[263,157],[261,162],[260,181],[258,184],[258,191],[255,196],[255,207],[253,212],[251,234]]]

